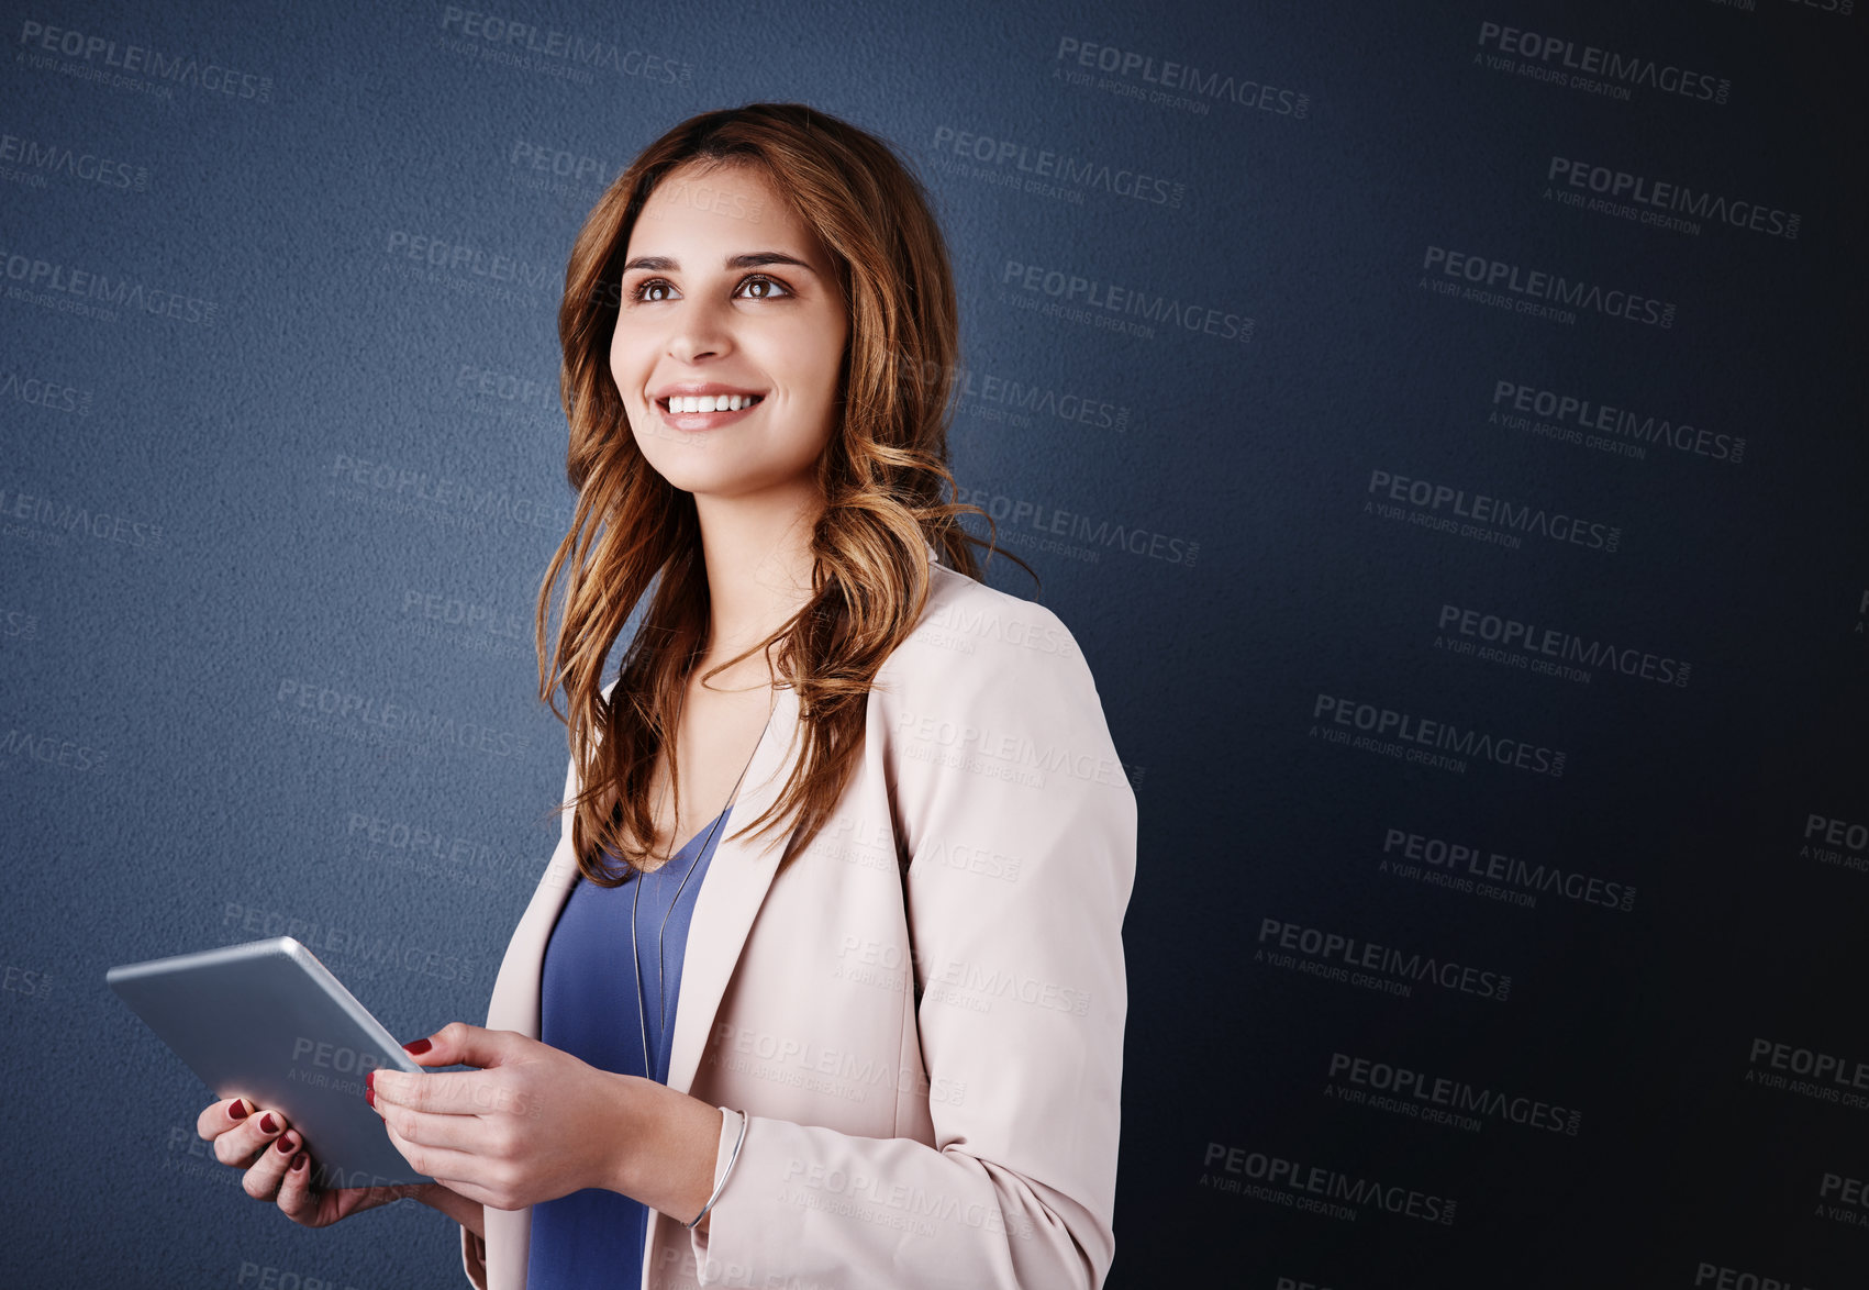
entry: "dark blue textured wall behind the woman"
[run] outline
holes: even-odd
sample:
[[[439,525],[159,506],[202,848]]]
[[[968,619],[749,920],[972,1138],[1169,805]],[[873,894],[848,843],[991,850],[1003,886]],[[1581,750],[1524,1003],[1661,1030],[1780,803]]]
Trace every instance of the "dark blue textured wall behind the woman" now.
[[[7,7],[0,1281],[460,1284],[247,1200],[103,972],[484,1015],[570,239],[798,99],[940,204],[1140,798],[1110,1284],[1863,1284],[1852,0]]]

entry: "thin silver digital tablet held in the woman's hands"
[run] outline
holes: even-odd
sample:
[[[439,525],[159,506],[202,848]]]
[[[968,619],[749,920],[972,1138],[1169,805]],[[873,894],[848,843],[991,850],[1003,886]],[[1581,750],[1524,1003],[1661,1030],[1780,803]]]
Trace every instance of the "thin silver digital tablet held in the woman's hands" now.
[[[424,1069],[292,937],[125,963],[105,982],[215,1096],[282,1111],[318,1187],[434,1182],[363,1096],[372,1069]]]

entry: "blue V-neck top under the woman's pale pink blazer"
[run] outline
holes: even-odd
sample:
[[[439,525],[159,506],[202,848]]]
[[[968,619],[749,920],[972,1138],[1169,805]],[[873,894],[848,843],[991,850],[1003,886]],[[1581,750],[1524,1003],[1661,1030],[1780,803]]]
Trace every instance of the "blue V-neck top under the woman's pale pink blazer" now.
[[[688,922],[693,918],[695,896],[706,879],[714,847],[727,832],[731,810],[729,804],[654,873],[643,875],[632,869],[621,886],[578,881],[546,942],[544,976],[538,987],[540,1041],[598,1069],[647,1075],[658,1084],[669,1082],[669,1047],[675,1034],[675,1004],[682,989]],[[635,948],[643,967],[643,1008],[637,1008],[635,972],[630,967],[630,901],[637,899],[637,882],[641,897],[635,910]],[[677,888],[680,901],[671,909]],[[665,927],[663,916],[667,916]],[[667,982],[662,967],[667,967]],[[667,1026],[662,1025],[663,985]],[[643,1069],[645,1021],[654,1071]],[[647,1236],[649,1208],[619,1191],[587,1187],[535,1204],[525,1286],[527,1290],[594,1286],[635,1290],[643,1279]]]

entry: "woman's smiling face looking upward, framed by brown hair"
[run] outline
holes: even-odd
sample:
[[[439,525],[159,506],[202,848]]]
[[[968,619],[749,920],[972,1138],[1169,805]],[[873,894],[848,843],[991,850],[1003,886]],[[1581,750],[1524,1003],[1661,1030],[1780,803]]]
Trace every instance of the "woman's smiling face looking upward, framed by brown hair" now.
[[[671,486],[787,492],[811,486],[837,426],[849,331],[830,254],[764,176],[690,163],[630,230],[609,370]]]

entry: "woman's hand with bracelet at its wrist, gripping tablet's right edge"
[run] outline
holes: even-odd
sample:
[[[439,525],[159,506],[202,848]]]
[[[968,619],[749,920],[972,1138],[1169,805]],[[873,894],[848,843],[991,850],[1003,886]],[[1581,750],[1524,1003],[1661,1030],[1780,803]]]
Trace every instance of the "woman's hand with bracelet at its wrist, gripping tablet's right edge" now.
[[[372,1105],[411,1168],[495,1210],[619,1189],[643,1127],[626,1075],[462,1021],[404,1047],[422,1066],[480,1068],[370,1073]]]

